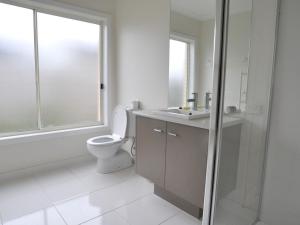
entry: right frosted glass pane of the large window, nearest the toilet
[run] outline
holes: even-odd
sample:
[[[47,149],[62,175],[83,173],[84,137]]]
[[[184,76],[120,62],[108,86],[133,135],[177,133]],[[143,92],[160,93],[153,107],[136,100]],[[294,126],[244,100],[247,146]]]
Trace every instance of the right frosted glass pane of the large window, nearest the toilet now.
[[[100,120],[100,26],[38,13],[44,127]]]

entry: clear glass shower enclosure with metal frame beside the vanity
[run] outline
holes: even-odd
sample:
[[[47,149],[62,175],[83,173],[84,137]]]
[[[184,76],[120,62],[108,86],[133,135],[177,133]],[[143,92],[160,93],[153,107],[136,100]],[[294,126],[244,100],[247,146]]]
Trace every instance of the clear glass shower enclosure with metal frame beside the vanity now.
[[[277,5],[274,0],[216,1],[203,225],[252,225],[259,220]]]

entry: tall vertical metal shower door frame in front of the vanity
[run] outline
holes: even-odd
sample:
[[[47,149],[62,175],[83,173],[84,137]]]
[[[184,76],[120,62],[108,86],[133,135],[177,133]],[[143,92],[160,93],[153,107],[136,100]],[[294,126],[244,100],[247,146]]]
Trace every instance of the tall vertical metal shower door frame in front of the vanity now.
[[[222,141],[226,53],[228,37],[229,0],[216,0],[213,95],[205,181],[202,225],[214,224],[215,200],[218,183],[219,154]]]

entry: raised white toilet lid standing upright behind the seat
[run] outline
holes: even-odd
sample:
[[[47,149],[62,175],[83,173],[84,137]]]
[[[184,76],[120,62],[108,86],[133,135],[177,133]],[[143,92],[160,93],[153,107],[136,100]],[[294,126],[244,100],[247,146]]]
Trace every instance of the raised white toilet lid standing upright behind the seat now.
[[[127,128],[127,112],[122,106],[117,106],[113,112],[113,134],[125,138]]]

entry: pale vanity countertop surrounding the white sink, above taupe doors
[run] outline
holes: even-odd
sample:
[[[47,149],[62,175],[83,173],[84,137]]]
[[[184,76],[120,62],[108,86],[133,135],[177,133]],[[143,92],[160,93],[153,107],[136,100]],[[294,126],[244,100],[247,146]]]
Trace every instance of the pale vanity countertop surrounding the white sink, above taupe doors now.
[[[186,120],[181,118],[176,118],[172,116],[166,116],[166,115],[160,115],[155,110],[140,110],[140,111],[134,111],[134,115],[147,117],[151,119],[157,119],[157,120],[163,120],[171,123],[178,123],[182,125],[187,125],[191,127],[198,127],[202,129],[209,129],[210,125],[210,119],[208,118],[201,118],[201,119],[194,119],[194,120]],[[239,118],[237,116],[230,116],[225,115],[223,117],[223,127],[230,127],[238,124],[242,124],[243,119]]]

